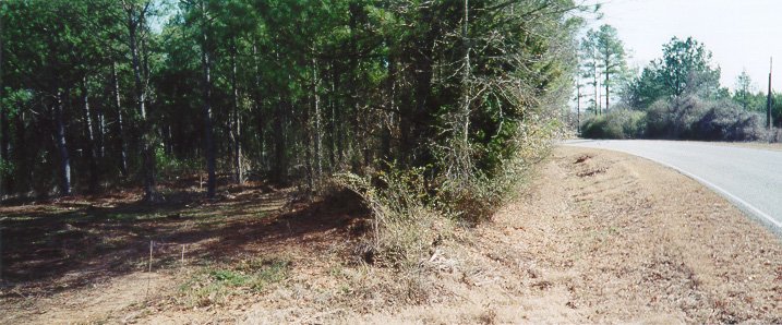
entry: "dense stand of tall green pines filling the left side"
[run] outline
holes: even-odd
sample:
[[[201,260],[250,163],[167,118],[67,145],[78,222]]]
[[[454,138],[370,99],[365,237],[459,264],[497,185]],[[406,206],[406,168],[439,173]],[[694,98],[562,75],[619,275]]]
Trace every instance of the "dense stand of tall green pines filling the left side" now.
[[[161,180],[193,174],[205,176],[207,197],[229,181],[313,195],[334,176],[411,170],[424,192],[454,201],[494,189],[562,130],[590,10],[572,0],[0,5],[1,193],[137,186],[148,201],[165,200]]]

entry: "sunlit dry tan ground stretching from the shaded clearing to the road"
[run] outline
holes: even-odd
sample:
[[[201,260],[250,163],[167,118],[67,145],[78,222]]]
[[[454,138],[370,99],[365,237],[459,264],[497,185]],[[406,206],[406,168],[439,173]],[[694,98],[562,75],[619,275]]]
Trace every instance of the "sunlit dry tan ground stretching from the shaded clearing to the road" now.
[[[125,267],[46,294],[5,288],[0,323],[782,323],[782,240],[697,182],[625,154],[556,148],[493,221],[458,228],[416,274],[357,263],[341,212],[239,213],[258,197],[207,224],[214,233],[167,236],[197,238],[212,252],[204,261],[225,257],[224,268],[285,256],[287,277],[264,290],[189,305],[182,284],[206,266],[172,256],[153,274]]]

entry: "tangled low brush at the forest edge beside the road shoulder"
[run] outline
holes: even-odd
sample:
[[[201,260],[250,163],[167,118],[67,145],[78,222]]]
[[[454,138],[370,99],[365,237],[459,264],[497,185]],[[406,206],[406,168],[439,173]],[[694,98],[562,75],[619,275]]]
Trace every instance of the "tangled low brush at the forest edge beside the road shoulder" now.
[[[425,268],[456,227],[490,220],[514,197],[531,166],[549,153],[560,127],[554,120],[530,118],[506,143],[513,155],[491,171],[473,167],[457,178],[437,174],[447,169],[443,166],[405,169],[389,164],[363,177],[337,176],[337,183],[361,196],[371,210],[372,227],[357,253],[372,265],[411,274]]]

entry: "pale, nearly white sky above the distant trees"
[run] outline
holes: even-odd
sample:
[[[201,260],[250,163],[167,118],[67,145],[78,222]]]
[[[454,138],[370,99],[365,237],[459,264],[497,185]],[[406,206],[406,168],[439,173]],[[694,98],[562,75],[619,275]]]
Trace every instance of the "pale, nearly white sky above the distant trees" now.
[[[693,36],[722,68],[723,86],[734,88],[746,68],[756,89],[768,87],[769,58],[774,57],[774,89],[782,88],[782,0],[590,0],[603,3],[594,26],[616,27],[631,51],[630,67],[662,56],[673,36]]]

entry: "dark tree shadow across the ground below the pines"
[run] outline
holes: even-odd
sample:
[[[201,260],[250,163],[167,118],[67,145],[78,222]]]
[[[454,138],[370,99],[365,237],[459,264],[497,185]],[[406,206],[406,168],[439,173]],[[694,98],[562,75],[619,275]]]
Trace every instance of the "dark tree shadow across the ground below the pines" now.
[[[352,237],[369,215],[350,192],[314,203],[291,203],[289,191],[232,189],[204,200],[180,191],[163,204],[98,201],[2,208],[0,280],[11,290],[49,294],[154,267],[176,265],[187,248],[194,263],[231,260],[263,248],[309,245]],[[354,228],[354,227],[353,227]]]

